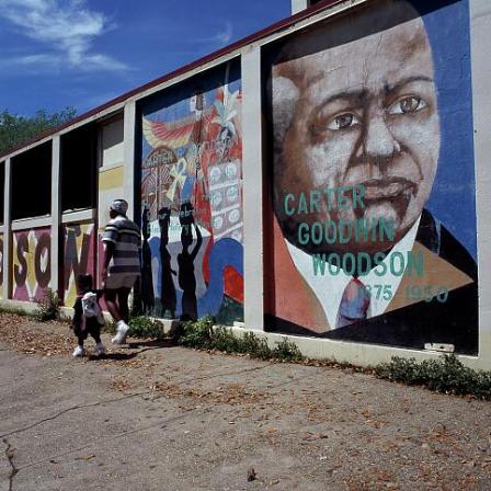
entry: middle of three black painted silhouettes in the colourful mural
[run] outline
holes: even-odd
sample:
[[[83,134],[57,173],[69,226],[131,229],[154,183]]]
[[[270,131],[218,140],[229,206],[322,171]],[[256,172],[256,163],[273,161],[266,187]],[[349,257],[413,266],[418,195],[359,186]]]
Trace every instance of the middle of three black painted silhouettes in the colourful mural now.
[[[168,250],[169,244],[169,224],[171,221],[171,209],[163,207],[159,209],[160,227],[160,262],[161,262],[161,295],[162,317],[169,310],[171,319],[175,318],[175,286],[172,275],[178,273],[171,267],[171,254]]]

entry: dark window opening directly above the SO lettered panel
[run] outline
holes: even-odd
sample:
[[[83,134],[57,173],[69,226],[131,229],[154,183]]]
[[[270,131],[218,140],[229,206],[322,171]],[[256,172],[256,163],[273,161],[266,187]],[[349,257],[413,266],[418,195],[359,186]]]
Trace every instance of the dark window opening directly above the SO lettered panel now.
[[[11,160],[12,220],[52,212],[52,142],[39,145]]]

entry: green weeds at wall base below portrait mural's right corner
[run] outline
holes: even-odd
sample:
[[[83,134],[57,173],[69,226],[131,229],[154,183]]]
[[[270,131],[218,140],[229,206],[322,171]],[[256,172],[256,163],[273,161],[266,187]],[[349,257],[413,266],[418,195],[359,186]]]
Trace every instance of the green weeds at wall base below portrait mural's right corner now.
[[[423,386],[430,390],[491,400],[491,372],[466,367],[454,354],[418,363],[414,358],[392,357],[375,367],[379,378]]]

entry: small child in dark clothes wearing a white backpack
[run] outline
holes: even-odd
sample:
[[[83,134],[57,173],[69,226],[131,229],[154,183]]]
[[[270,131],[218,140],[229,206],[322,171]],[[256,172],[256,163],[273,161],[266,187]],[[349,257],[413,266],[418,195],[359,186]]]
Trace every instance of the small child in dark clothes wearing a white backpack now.
[[[90,274],[79,274],[77,276],[77,300],[75,301],[72,329],[78,338],[78,346],[73,350],[73,356],[84,356],[83,341],[90,334],[95,341],[94,355],[101,356],[105,349],[101,342],[101,326],[104,326],[104,317],[99,298],[102,293],[92,289],[92,276]]]

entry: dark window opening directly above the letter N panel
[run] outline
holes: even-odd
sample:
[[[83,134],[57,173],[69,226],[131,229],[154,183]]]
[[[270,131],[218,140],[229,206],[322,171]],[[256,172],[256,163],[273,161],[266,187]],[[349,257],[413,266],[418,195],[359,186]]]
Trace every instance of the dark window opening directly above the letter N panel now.
[[[95,208],[96,132],[91,124],[61,136],[61,212]]]

